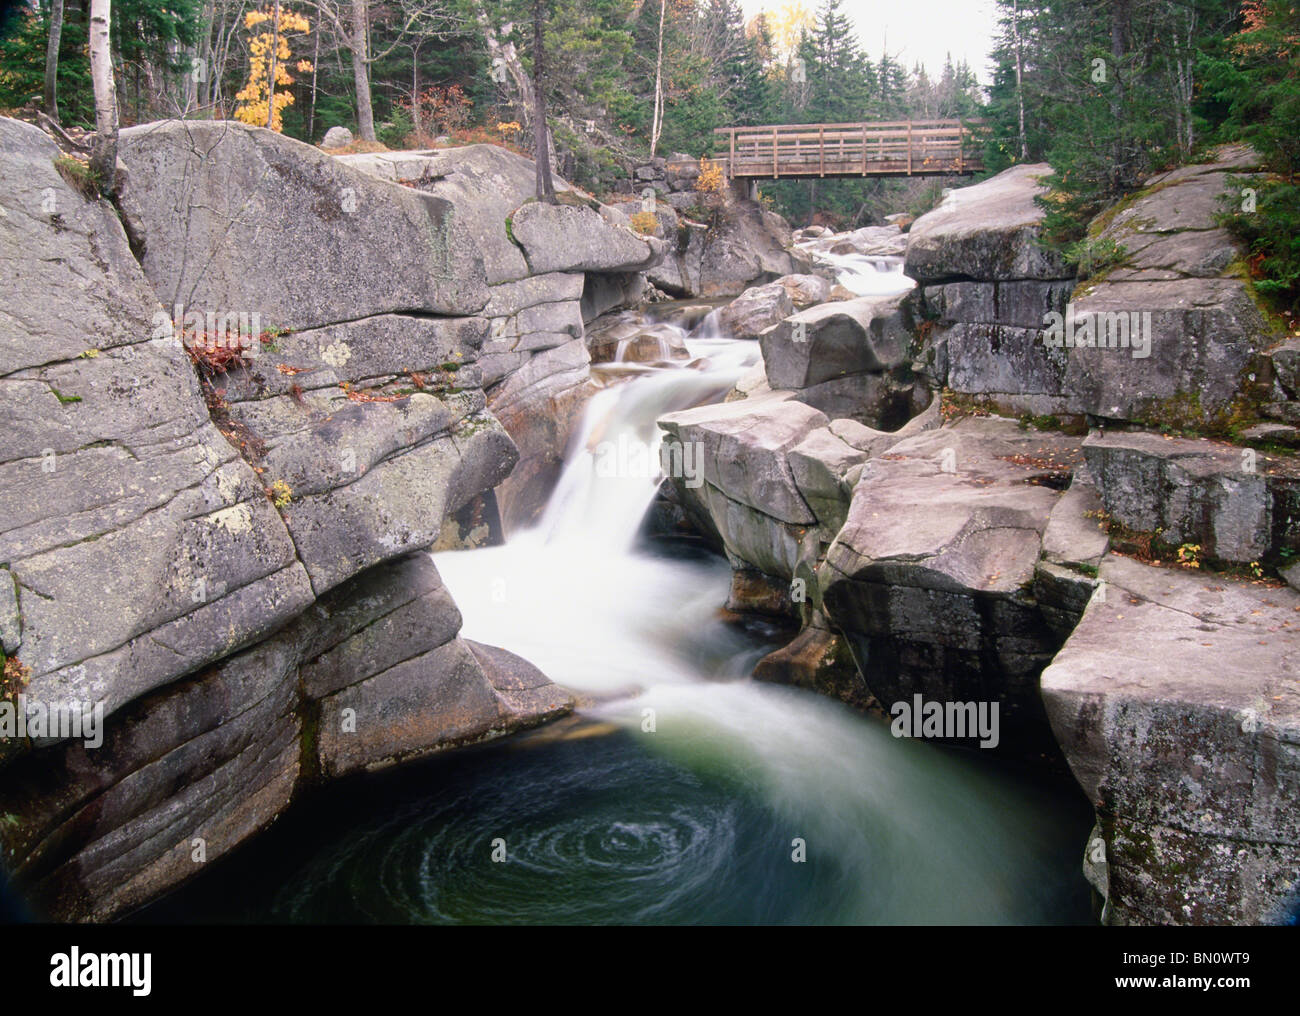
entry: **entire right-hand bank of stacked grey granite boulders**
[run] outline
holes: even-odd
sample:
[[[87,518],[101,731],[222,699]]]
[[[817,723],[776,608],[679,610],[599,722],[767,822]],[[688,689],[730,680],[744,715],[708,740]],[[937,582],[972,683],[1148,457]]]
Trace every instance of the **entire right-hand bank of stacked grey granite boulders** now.
[[[907,234],[915,290],[784,318],[737,401],[663,421],[716,450],[703,487],[675,486],[732,605],[801,621],[755,674],[998,700],[1004,744],[1054,741],[1092,802],[1113,924],[1296,904],[1295,340],[1214,220],[1251,165],[1152,179],[1093,226],[1123,262],[1082,282],[1036,242],[1045,166],[953,191]],[[1053,346],[1066,313],[1098,337]],[[1145,322],[1148,355],[1108,343],[1112,314]],[[832,385],[849,412],[820,404]]]

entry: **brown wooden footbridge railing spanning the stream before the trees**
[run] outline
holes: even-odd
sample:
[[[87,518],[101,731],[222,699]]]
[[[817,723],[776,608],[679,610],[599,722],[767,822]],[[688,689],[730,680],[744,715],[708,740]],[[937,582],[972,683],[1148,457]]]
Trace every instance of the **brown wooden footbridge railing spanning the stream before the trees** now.
[[[714,134],[733,179],[894,177],[979,171],[978,127],[959,120],[914,120],[718,127]]]

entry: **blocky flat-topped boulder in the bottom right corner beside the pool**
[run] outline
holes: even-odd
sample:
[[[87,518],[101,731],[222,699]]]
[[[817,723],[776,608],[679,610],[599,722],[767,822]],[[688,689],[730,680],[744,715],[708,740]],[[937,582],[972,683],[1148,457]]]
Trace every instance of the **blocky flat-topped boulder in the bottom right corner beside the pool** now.
[[[1294,921],[1300,594],[1110,556],[1043,698],[1106,924]]]

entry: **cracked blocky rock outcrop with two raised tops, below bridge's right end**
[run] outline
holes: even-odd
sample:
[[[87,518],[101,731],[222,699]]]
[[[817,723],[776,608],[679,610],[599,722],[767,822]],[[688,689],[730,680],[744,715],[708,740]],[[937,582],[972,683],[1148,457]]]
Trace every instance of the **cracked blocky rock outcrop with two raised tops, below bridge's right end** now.
[[[1240,244],[1217,222],[1249,162],[1221,153],[1104,212],[1088,243],[1118,261],[1076,287],[1037,243],[1034,168],[954,191],[909,234],[935,382],[1009,413],[1153,425],[1222,425],[1260,401],[1247,388],[1273,338],[1240,278]],[[1282,386],[1277,396],[1290,405]]]

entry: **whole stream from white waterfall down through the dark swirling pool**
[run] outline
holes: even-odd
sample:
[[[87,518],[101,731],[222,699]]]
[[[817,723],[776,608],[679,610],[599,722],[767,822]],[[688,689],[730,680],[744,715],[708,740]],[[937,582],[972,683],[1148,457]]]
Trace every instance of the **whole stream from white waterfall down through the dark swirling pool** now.
[[[656,418],[719,398],[757,355],[689,346],[703,369],[649,372],[592,400],[541,525],[436,556],[463,634],[536,663],[580,696],[580,718],[342,789],[242,861],[243,898],[266,899],[231,909],[217,880],[190,913],[1088,920],[1078,843],[1091,812],[1071,785],[750,679],[774,644],[720,617],[725,563],[637,547]]]

